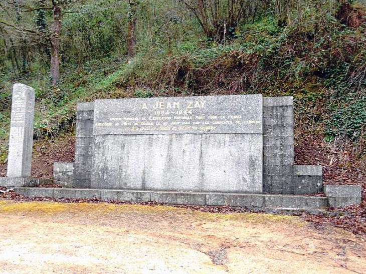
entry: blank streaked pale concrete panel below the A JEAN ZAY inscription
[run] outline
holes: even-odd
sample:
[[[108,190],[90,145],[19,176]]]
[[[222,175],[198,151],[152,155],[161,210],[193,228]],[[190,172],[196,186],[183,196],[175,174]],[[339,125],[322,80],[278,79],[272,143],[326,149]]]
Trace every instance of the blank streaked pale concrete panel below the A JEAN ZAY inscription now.
[[[262,192],[259,134],[94,138],[92,188]]]

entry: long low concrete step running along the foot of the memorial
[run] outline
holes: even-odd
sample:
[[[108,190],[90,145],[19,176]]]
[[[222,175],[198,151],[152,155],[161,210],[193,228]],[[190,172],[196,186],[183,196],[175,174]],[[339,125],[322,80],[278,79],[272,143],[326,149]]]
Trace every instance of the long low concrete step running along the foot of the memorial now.
[[[14,191],[30,197],[98,198],[131,202],[157,201],[167,204],[232,205],[255,209],[313,211],[327,207],[326,197],[297,195],[35,187],[16,187]]]

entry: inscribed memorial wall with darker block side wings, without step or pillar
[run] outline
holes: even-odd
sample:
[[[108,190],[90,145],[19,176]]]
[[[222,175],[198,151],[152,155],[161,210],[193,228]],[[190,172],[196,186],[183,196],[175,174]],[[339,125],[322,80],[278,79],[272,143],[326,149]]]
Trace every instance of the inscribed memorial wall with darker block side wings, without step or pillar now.
[[[77,119],[75,187],[321,191],[321,167],[294,166],[292,97],[96,100]]]

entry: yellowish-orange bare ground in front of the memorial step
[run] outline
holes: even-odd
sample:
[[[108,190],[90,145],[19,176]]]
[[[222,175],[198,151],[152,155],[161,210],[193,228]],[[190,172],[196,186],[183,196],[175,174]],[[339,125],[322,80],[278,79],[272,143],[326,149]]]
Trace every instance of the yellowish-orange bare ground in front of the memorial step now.
[[[366,242],[293,216],[0,199],[0,273],[366,273]]]

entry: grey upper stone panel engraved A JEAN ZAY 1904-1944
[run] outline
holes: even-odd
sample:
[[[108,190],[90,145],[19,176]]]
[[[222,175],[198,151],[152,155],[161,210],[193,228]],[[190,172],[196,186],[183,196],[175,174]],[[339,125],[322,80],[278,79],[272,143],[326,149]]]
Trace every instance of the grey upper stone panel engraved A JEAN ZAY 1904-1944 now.
[[[262,133],[260,95],[96,100],[94,134]]]

